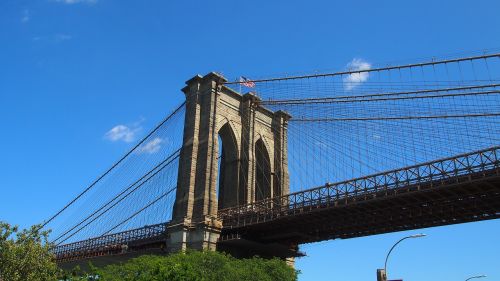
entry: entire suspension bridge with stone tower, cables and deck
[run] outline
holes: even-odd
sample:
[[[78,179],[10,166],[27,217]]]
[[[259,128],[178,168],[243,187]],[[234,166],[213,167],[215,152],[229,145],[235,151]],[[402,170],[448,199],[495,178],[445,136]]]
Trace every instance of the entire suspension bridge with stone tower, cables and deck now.
[[[304,243],[500,217],[499,53],[213,72],[182,92],[45,221],[61,266],[184,249],[292,260]]]

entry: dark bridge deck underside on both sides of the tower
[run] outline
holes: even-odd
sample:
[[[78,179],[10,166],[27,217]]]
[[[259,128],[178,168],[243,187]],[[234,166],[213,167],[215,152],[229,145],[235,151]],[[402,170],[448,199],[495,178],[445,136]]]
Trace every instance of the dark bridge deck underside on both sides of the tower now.
[[[236,257],[289,258],[302,256],[298,245],[304,243],[496,218],[500,218],[499,168],[341,200],[233,215],[223,222],[217,249]],[[148,228],[153,227],[158,226]],[[142,239],[61,254],[58,264],[64,269],[86,268],[89,261],[103,266],[142,254],[168,254],[168,234],[148,228],[139,229],[151,233],[142,234]]]

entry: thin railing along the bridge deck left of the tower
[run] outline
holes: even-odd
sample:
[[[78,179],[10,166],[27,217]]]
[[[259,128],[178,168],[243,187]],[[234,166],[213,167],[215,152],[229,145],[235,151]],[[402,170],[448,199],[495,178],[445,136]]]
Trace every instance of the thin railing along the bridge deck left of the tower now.
[[[52,253],[56,259],[64,259],[74,255],[81,255],[87,252],[95,252],[108,248],[120,248],[130,242],[152,239],[165,233],[168,223],[148,225],[141,228],[131,229],[123,232],[104,235],[88,240],[56,246]]]

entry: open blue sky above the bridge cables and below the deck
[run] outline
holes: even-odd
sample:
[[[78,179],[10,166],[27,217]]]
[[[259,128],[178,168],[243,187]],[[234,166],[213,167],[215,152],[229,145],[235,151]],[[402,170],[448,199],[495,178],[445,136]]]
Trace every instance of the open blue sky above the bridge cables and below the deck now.
[[[494,0],[2,0],[0,219],[49,217],[182,102],[195,74],[266,77],[498,48],[498,11]],[[394,252],[391,278],[500,280],[500,222],[422,232]],[[408,233],[304,245],[300,280],[374,280]]]

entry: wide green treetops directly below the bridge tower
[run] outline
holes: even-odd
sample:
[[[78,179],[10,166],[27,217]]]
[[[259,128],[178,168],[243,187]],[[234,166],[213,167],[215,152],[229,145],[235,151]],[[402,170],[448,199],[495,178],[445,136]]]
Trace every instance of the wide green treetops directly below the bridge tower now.
[[[218,252],[190,251],[145,255],[123,264],[94,268],[86,276],[86,280],[104,281],[291,281],[297,280],[297,271],[278,259],[236,259]]]

